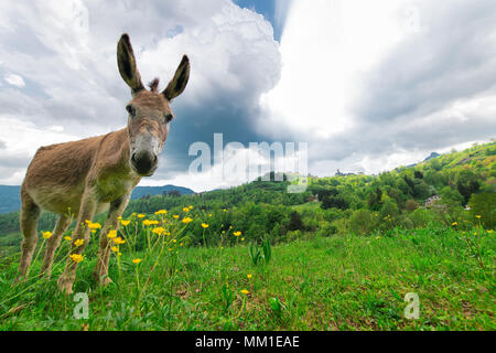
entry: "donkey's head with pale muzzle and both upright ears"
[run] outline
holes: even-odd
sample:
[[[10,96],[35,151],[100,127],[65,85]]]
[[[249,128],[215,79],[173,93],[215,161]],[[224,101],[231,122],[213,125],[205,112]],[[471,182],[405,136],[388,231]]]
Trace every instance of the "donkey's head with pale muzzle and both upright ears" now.
[[[151,176],[157,170],[169,133],[169,122],[174,118],[171,101],[181,95],[190,78],[190,61],[183,56],[168,87],[159,93],[159,79],[150,83],[150,90],[141,83],[131,42],[122,34],[117,45],[120,75],[131,88],[132,99],[126,106],[129,113],[129,164],[141,176]]]

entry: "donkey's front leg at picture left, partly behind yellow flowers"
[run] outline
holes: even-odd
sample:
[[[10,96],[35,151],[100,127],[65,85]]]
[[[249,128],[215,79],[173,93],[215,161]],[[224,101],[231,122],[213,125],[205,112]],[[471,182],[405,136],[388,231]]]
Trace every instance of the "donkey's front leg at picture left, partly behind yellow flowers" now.
[[[58,288],[71,295],[73,292],[73,284],[76,278],[76,268],[79,263],[78,256],[80,256],[89,243],[89,227],[85,223],[86,220],[91,221],[95,216],[97,206],[96,197],[93,196],[90,191],[85,192],[79,207],[79,214],[77,216],[76,228],[73,233],[73,245],[71,248],[67,264],[65,265],[64,272],[58,278]],[[80,243],[80,244],[79,244]],[[74,256],[75,255],[75,256]]]

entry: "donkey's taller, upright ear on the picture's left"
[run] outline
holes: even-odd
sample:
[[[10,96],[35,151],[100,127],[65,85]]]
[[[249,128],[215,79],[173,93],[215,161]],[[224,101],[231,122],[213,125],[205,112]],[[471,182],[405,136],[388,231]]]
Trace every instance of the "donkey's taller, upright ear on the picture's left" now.
[[[119,66],[120,76],[131,88],[131,94],[136,95],[144,89],[141,83],[141,75],[136,65],[134,53],[132,52],[131,41],[127,33],[122,34],[117,44],[117,65]]]

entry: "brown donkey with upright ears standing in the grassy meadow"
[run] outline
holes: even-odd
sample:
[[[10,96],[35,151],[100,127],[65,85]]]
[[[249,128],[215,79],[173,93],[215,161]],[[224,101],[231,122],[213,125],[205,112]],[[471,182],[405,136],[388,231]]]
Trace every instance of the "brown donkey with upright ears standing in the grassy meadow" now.
[[[25,277],[37,243],[36,225],[40,211],[58,214],[58,221],[47,240],[42,272],[51,275],[53,257],[63,234],[77,214],[72,236],[71,254],[83,254],[89,242],[89,228],[85,221],[108,210],[100,232],[95,278],[99,285],[111,280],[107,277],[110,256],[107,234],[119,226],[119,217],[126,210],[134,186],[142,176],[151,176],[158,168],[174,115],[172,100],[181,95],[190,78],[190,61],[183,56],[174,77],[160,92],[159,79],[150,83],[150,90],[141,83],[131,42],[127,33],[117,44],[117,63],[122,79],[131,88],[132,99],[126,106],[128,126],[121,130],[88,139],[42,147],[31,161],[21,186],[21,261],[18,279]],[[83,239],[82,246],[74,243]],[[82,242],[78,242],[82,243]],[[68,257],[57,285],[60,290],[72,293],[77,263]]]

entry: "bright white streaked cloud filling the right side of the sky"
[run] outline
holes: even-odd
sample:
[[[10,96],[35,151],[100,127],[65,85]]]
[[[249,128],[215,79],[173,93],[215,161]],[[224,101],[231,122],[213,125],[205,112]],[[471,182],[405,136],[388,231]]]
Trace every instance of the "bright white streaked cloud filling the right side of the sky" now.
[[[496,131],[494,1],[299,1],[259,132],[311,171],[379,172]],[[269,126],[269,128],[268,128]]]

